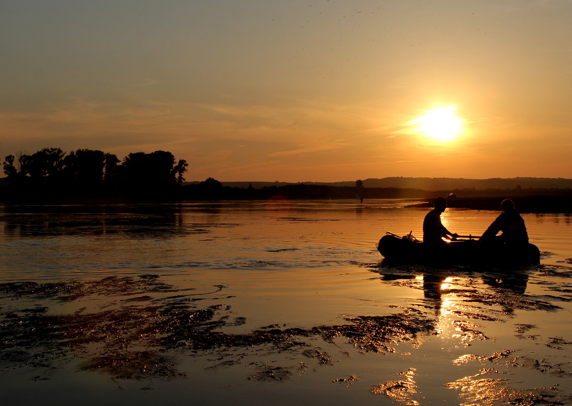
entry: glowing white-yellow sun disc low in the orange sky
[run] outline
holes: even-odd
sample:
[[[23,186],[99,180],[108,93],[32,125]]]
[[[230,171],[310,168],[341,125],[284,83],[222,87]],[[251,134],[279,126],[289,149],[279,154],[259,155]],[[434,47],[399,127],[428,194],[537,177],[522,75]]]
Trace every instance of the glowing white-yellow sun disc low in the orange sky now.
[[[438,142],[455,139],[461,131],[462,120],[455,114],[455,106],[432,109],[411,122],[424,136]]]

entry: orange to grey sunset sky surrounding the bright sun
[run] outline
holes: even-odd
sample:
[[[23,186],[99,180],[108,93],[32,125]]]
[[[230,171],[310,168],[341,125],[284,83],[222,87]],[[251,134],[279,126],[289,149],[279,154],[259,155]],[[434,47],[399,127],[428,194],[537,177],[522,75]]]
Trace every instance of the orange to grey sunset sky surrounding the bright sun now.
[[[0,157],[186,180],[572,178],[572,0],[3,0]],[[454,110],[460,132],[419,118]]]

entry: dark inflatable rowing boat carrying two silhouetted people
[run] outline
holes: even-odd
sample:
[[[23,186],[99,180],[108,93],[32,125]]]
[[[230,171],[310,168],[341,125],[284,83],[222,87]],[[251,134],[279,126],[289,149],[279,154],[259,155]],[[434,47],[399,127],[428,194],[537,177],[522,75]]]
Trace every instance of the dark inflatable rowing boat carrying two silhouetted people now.
[[[387,261],[419,264],[499,264],[534,265],[540,263],[540,251],[534,244],[502,244],[477,240],[444,242],[442,246],[423,244],[410,236],[387,233],[377,248]]]

